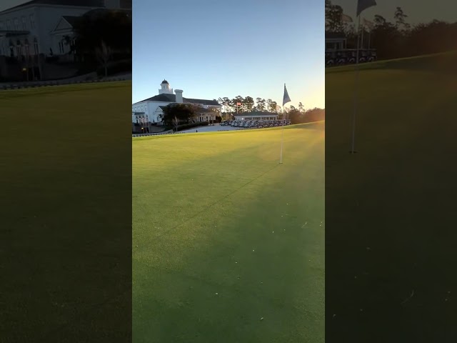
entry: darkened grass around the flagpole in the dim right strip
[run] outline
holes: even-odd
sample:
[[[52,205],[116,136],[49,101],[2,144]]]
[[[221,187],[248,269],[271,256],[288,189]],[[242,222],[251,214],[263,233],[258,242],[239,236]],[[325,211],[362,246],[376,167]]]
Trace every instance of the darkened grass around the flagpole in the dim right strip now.
[[[353,68],[326,71],[326,327],[359,328],[341,342],[453,341],[456,57],[361,68],[357,154]]]

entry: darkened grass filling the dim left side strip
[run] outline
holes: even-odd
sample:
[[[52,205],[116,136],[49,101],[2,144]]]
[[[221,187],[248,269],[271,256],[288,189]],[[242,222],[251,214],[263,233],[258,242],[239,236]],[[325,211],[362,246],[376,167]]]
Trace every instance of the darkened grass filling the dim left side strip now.
[[[128,342],[131,82],[0,104],[1,342]]]

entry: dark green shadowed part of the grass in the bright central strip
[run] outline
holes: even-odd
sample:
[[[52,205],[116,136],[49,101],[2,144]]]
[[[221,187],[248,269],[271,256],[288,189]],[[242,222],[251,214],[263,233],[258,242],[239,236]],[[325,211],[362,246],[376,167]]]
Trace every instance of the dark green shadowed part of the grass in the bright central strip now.
[[[303,169],[268,173],[214,204],[219,215],[139,243],[135,342],[323,342],[323,179],[296,184]]]

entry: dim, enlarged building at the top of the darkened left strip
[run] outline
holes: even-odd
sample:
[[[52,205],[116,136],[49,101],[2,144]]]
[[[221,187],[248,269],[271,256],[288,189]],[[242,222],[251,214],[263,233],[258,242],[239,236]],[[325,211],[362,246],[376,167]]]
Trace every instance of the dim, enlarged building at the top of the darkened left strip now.
[[[73,24],[96,9],[131,10],[131,0],[32,0],[0,12],[0,76],[14,77],[17,69],[26,79],[49,79],[42,70],[44,58],[71,60]],[[3,67],[2,67],[3,66]],[[47,70],[51,73],[51,69]]]

